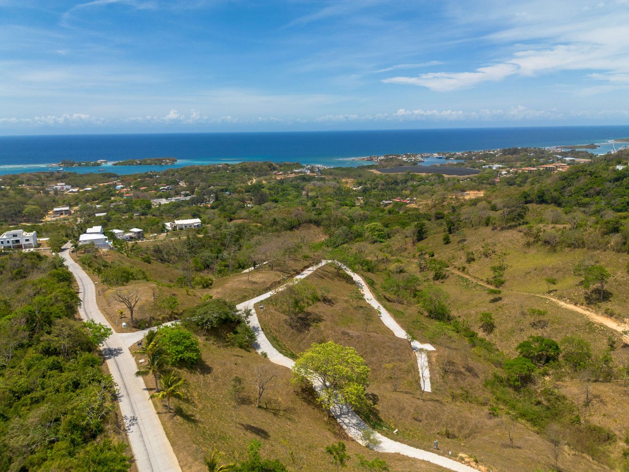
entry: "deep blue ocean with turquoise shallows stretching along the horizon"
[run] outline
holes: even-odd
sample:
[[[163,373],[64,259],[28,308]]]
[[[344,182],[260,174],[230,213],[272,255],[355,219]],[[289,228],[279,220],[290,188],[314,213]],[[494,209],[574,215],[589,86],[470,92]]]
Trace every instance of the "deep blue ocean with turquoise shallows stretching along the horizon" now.
[[[270,160],[323,166],[369,164],[355,157],[405,152],[457,152],[500,147],[550,147],[598,143],[595,154],[626,143],[629,126],[558,126],[530,128],[458,128],[277,133],[171,133],[124,135],[54,135],[0,137],[0,175],[48,171],[50,164],[106,159],[99,167],[133,174],[198,164]],[[146,157],[176,157],[173,166],[111,166],[111,162]],[[426,166],[443,160],[426,159]],[[95,167],[70,167],[96,172]]]

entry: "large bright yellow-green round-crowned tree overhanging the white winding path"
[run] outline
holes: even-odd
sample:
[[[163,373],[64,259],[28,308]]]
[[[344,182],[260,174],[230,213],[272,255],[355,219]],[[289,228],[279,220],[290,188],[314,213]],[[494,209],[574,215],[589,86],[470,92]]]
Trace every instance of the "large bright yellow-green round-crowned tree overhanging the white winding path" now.
[[[353,347],[333,341],[313,344],[292,367],[292,382],[304,381],[312,381],[320,388],[318,402],[326,410],[343,402],[360,409],[371,405],[366,391],[369,367]]]

